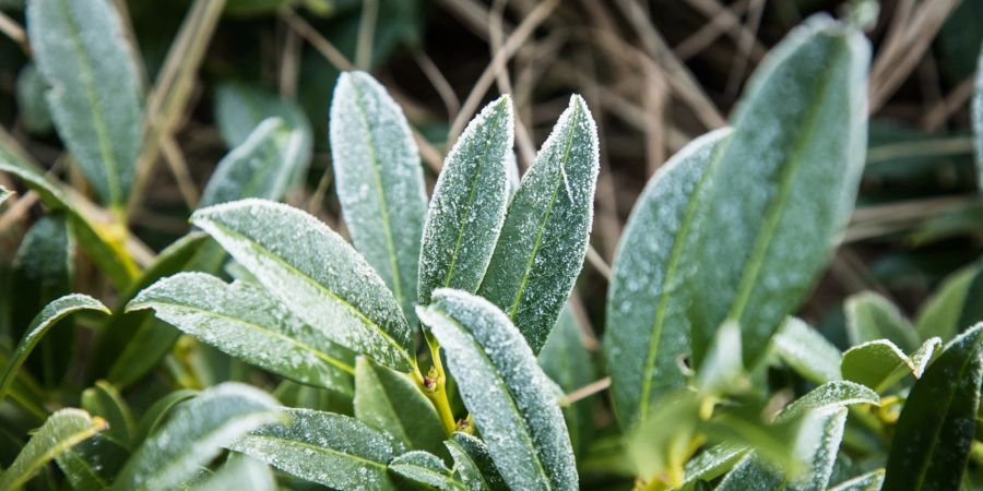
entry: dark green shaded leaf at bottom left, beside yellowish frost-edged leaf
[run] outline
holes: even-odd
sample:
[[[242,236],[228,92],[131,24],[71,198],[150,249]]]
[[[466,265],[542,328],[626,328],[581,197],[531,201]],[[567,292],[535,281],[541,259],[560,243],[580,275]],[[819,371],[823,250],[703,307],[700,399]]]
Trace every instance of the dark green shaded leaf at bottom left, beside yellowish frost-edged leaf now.
[[[109,489],[129,456],[130,452],[116,440],[97,433],[62,452],[55,460],[74,491],[104,491]]]

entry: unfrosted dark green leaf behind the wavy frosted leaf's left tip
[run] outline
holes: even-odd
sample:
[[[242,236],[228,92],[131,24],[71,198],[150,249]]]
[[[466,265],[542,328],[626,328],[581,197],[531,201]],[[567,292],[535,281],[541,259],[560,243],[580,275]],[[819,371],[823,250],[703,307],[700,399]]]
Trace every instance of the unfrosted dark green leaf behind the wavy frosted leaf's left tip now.
[[[170,350],[180,333],[150,312],[127,312],[126,304],[157,279],[189,267],[206,239],[203,232],[191,232],[174,241],[120,295],[96,347],[96,376],[126,387],[146,375]]]

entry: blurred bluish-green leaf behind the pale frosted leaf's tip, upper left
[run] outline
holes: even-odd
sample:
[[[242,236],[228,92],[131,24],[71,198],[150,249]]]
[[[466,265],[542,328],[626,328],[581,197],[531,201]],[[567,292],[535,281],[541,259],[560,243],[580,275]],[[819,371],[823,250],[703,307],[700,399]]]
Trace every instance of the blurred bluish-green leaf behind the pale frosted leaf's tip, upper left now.
[[[241,145],[257,125],[271,117],[282,119],[299,135],[298,152],[291,154],[293,159],[284,163],[284,167],[294,173],[291,182],[299,183],[307,176],[313,152],[313,132],[304,109],[293,100],[257,86],[232,82],[218,84],[215,89],[215,120],[222,139],[230,148]]]

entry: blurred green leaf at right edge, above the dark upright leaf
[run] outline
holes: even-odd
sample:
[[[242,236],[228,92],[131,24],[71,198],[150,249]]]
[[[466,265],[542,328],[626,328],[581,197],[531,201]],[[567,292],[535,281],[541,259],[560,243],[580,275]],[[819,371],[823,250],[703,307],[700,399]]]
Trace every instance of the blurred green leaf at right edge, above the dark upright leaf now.
[[[916,330],[923,339],[938,336],[951,339],[963,327],[983,320],[983,303],[973,301],[983,295],[983,267],[971,264],[952,273],[919,311]]]

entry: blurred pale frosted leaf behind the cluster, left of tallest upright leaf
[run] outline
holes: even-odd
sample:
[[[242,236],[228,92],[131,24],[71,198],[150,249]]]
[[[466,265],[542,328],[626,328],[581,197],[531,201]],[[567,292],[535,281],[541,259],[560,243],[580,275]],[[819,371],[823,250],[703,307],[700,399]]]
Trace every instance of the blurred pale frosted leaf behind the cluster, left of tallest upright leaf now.
[[[280,200],[296,173],[303,134],[280,118],[263,120],[239,146],[232,149],[209,179],[200,207],[244,197]]]

